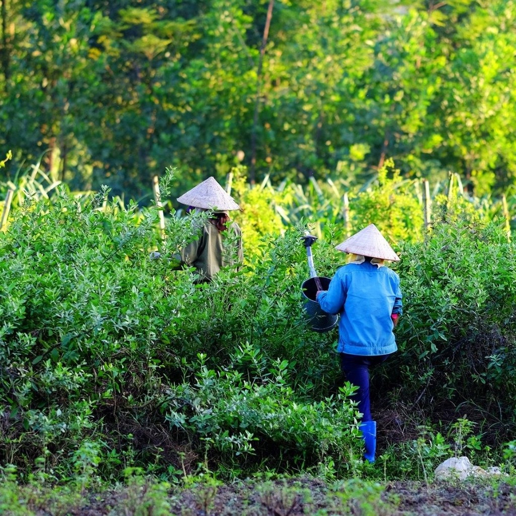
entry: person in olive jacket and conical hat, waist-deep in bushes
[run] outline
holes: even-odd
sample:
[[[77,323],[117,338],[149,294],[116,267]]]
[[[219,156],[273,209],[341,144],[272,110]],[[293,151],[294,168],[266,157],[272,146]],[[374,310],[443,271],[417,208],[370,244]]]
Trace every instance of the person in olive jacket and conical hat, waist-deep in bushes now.
[[[188,190],[178,201],[193,209],[212,212],[197,240],[181,251],[181,263],[197,269],[200,282],[212,281],[222,267],[244,260],[242,232],[229,211],[239,209],[234,199],[210,177]]]

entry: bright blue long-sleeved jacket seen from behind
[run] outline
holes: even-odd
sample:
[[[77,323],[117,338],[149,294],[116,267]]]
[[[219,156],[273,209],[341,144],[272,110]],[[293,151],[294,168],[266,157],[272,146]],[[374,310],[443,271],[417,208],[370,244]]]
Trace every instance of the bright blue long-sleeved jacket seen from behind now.
[[[391,314],[401,315],[401,298],[396,272],[363,262],[340,267],[317,301],[325,312],[341,314],[338,352],[375,356],[398,349]]]

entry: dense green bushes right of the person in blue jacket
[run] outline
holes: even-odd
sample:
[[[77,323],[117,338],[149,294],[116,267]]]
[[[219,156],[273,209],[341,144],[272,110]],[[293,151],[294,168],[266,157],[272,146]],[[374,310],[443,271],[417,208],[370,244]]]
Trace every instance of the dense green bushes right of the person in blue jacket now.
[[[482,404],[514,396],[516,263],[502,228],[443,222],[425,243],[404,245],[402,257],[397,271],[407,311],[395,360],[412,395],[478,396]],[[510,415],[510,404],[503,405]]]

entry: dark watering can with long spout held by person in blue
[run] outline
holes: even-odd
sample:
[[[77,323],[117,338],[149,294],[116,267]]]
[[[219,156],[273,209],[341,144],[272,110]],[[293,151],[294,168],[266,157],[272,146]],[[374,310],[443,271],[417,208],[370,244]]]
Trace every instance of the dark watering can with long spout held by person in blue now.
[[[303,305],[303,309],[310,329],[318,333],[324,333],[335,327],[338,316],[327,314],[322,310],[315,299],[315,295],[317,291],[328,290],[331,279],[324,276],[317,276],[317,272],[315,271],[312,244],[317,240],[317,237],[306,234],[302,239],[304,240],[304,247],[307,248],[308,268],[310,270],[310,278],[303,281],[301,285],[303,297],[307,299]]]

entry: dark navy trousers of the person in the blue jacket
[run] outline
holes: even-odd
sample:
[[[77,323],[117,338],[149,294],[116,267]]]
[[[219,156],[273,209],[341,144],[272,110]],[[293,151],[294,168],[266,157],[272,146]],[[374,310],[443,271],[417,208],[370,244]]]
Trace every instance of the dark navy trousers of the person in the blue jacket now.
[[[341,353],[342,372],[349,383],[358,387],[351,399],[358,401],[358,410],[364,414],[362,416],[363,422],[373,420],[369,402],[369,368],[381,364],[391,354],[369,357]]]

